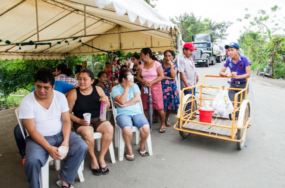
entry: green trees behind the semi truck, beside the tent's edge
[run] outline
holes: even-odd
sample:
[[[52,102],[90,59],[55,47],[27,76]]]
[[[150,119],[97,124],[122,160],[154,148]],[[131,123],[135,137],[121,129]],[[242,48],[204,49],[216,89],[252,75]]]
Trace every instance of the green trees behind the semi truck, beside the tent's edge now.
[[[195,17],[193,12],[190,14],[185,12],[178,17],[170,18],[170,20],[178,26],[182,40],[185,42],[192,41],[192,35],[198,33],[210,33],[213,35],[214,41],[223,40],[228,35],[226,29],[231,24],[229,21],[216,22],[209,18],[201,20],[201,17]]]

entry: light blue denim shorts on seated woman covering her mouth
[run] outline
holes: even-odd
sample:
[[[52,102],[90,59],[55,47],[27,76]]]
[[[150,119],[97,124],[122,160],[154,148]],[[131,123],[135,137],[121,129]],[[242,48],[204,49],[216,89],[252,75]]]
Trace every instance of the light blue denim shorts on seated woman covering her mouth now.
[[[132,129],[132,125],[137,127],[137,129],[140,129],[143,125],[149,126],[144,114],[136,114],[132,116],[121,114],[116,117],[116,122],[121,129],[124,127],[130,127]]]

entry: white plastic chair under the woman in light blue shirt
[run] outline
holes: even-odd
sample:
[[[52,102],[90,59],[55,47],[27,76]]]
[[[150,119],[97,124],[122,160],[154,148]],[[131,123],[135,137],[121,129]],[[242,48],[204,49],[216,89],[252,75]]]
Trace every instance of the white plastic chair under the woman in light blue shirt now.
[[[117,116],[117,109],[113,103],[113,99],[111,97],[111,105],[112,105],[112,111],[113,111],[113,117],[114,117],[114,122],[115,122],[115,148],[118,148],[118,160],[122,161],[123,160],[123,154],[124,154],[124,140],[122,137],[122,130],[121,128],[117,125],[116,122],[116,116]],[[139,106],[141,109],[141,113],[143,113],[143,108],[142,108],[142,103],[141,99],[139,101]],[[136,127],[132,127],[132,132],[135,132],[135,144],[138,145],[139,142],[139,129]],[[152,146],[151,146],[151,138],[150,138],[150,131],[149,135],[146,140],[147,148],[148,148],[148,154],[152,156]]]

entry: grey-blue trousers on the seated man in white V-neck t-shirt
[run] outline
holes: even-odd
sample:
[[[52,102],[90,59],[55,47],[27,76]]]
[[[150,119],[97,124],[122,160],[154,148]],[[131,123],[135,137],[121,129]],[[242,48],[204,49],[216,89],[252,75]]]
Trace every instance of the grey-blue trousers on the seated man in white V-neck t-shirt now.
[[[63,141],[62,132],[44,138],[51,146],[55,147],[59,147]],[[27,138],[26,142],[24,172],[29,187],[39,188],[38,173],[40,168],[45,165],[49,154],[30,137]],[[87,148],[86,143],[80,137],[73,132],[70,133],[68,158],[59,173],[59,176],[64,182],[68,184],[74,183],[79,166],[86,155]]]

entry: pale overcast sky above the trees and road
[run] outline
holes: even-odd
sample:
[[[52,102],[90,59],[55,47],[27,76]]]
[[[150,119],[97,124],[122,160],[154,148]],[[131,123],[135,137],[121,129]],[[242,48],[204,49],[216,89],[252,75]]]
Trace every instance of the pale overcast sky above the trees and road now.
[[[240,35],[240,30],[243,25],[248,25],[248,22],[237,22],[237,18],[243,18],[248,8],[251,16],[256,16],[259,9],[263,9],[266,13],[271,12],[270,8],[278,5],[281,9],[278,11],[280,17],[285,16],[285,0],[157,0],[153,1],[156,4],[155,9],[165,17],[175,17],[184,12],[193,12],[195,17],[211,18],[212,21],[230,21],[233,24],[227,29],[227,39],[225,43],[231,41],[236,42]],[[285,27],[285,25],[284,25]]]

